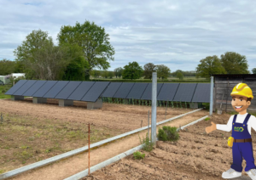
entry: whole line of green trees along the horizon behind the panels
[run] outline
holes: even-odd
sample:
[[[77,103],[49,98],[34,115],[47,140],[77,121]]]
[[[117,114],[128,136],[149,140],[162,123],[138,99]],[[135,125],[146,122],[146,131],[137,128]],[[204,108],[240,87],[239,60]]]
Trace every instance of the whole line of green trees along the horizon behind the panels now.
[[[62,25],[57,43],[54,44],[47,31],[32,31],[15,49],[15,61],[0,60],[0,75],[20,72],[26,73],[26,79],[84,81],[90,76],[151,79],[154,71],[161,79],[168,76],[183,79],[183,76],[209,78],[212,74],[250,73],[246,56],[236,52],[226,52],[220,57],[207,56],[200,60],[195,71],[171,72],[166,65],[148,63],[141,66],[136,61],[109,71],[115,53],[109,35],[102,26],[88,20],[73,26]],[[252,71],[256,74],[256,68]]]

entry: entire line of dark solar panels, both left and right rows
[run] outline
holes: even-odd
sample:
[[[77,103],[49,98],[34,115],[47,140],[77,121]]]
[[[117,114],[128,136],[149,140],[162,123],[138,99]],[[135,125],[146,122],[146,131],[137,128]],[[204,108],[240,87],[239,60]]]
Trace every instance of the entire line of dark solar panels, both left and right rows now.
[[[99,97],[151,100],[152,83],[20,80],[5,94],[96,102]],[[209,83],[157,83],[157,100],[210,102]]]

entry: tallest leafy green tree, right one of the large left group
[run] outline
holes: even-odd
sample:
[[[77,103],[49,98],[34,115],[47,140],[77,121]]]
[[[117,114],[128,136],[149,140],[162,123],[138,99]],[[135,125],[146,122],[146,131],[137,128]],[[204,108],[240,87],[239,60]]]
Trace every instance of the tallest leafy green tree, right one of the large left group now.
[[[58,40],[60,45],[68,43],[82,48],[84,59],[89,63],[89,68],[85,70],[86,80],[90,79],[90,70],[108,70],[109,61],[114,59],[114,48],[109,42],[109,35],[94,22],[86,20],[84,24],[77,22],[74,26],[63,25]]]

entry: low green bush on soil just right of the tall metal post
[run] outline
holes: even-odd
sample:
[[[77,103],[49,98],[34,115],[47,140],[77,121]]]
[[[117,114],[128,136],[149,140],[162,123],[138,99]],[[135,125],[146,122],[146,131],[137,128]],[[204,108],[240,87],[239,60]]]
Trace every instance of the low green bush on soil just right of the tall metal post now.
[[[160,141],[177,141],[179,139],[177,127],[159,128],[157,138],[159,138]]]

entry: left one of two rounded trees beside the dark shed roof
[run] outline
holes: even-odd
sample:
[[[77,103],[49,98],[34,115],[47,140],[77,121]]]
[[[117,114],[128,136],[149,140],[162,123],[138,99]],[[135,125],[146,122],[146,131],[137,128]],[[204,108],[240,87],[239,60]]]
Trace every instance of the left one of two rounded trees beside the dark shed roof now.
[[[201,64],[197,65],[196,72],[198,76],[210,78],[212,74],[225,74],[226,71],[220,63],[218,56],[207,56],[200,60]]]

